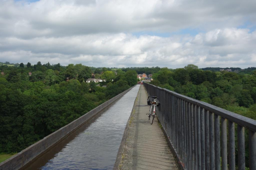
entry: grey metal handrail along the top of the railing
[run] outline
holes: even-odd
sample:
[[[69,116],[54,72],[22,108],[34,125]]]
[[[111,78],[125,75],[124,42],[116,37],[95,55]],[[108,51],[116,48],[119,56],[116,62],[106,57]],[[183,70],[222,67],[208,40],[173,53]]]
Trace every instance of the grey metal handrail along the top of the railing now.
[[[154,86],[153,84],[148,84],[148,85]],[[203,108],[207,109],[208,111],[211,111],[212,113],[215,113],[215,114],[217,114],[217,115],[219,115],[223,118],[226,118],[226,119],[228,119],[228,120],[230,120],[234,123],[237,123],[240,126],[246,127],[248,129],[250,129],[251,131],[256,132],[256,120],[254,120],[254,119],[250,119],[249,117],[239,115],[237,113],[228,111],[226,109],[222,109],[222,108],[214,106],[212,104],[208,104],[206,102],[202,102],[202,101],[190,98],[188,96],[178,94],[178,93],[173,92],[171,90],[168,90],[166,88],[160,88],[158,86],[154,86],[154,87],[156,87],[158,89],[161,89],[161,90],[164,90],[164,91],[166,91],[170,94],[173,94],[174,96],[179,97],[183,100],[186,100],[187,102],[190,102],[190,103],[195,104],[197,106],[203,107]]]

